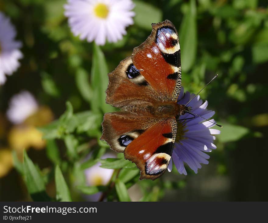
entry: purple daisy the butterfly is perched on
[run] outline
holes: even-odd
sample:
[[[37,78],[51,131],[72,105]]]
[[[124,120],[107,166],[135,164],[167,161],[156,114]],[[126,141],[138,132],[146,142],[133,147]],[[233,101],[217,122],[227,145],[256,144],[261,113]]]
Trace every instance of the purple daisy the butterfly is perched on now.
[[[178,104],[186,104],[193,98],[195,94],[190,94],[188,91],[184,93],[183,87],[181,88],[180,95],[178,97]],[[200,96],[195,97],[187,106],[192,107],[193,113],[201,115],[206,119],[210,119],[215,112],[206,109],[208,102],[203,103],[200,100]],[[175,146],[172,153],[172,159],[168,165],[168,171],[172,170],[172,160],[180,174],[187,175],[184,167],[184,163],[197,174],[197,170],[200,169],[201,163],[208,164],[210,158],[206,152],[211,152],[212,149],[217,147],[213,144],[213,140],[216,139],[216,134],[220,134],[219,130],[211,129],[215,124],[214,119],[211,122],[205,121],[200,117],[191,118],[192,115],[186,113],[181,115],[179,119],[186,119],[178,121],[178,130],[175,140]]]

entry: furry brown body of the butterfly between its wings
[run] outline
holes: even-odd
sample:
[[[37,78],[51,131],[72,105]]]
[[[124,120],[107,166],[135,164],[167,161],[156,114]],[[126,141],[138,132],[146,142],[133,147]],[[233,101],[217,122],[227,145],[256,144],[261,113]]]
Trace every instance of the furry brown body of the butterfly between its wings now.
[[[178,117],[180,115],[185,114],[185,108],[185,105],[169,101],[132,104],[122,107],[121,110],[142,117],[170,118],[174,116]]]

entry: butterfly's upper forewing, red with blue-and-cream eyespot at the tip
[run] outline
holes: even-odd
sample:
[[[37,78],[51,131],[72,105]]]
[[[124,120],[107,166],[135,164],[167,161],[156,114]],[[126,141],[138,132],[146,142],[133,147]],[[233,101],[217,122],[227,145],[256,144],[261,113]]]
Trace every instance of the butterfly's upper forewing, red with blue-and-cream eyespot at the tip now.
[[[177,101],[181,87],[181,50],[178,33],[169,20],[152,24],[151,35],[135,47],[132,61],[164,101]]]

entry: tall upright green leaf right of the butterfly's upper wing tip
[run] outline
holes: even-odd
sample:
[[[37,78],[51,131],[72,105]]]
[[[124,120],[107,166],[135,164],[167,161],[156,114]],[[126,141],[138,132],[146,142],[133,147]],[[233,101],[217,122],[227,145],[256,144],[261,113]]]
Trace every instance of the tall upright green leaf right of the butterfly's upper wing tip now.
[[[179,31],[182,71],[190,70],[196,60],[197,28],[196,28],[196,3],[190,1],[188,12],[184,15]]]

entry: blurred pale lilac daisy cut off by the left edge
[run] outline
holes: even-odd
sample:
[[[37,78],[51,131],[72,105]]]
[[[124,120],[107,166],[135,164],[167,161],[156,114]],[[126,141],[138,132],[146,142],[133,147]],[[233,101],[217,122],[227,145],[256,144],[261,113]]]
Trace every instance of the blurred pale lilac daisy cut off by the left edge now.
[[[23,57],[19,48],[21,42],[15,41],[16,30],[8,17],[0,12],[0,85],[5,83],[5,75],[12,75],[19,67]]]

